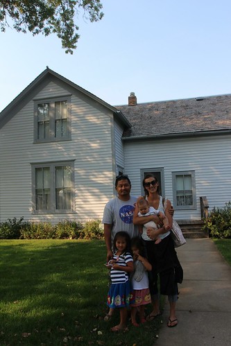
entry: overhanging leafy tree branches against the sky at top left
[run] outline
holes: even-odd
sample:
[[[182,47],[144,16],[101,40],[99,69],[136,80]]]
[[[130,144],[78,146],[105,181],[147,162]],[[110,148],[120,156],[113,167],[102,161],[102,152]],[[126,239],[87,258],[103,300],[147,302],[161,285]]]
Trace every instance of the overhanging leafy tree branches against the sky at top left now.
[[[76,19],[80,10],[89,21],[103,17],[101,0],[0,0],[0,28],[10,26],[18,32],[31,31],[45,36],[56,33],[66,53],[73,53],[79,39]]]

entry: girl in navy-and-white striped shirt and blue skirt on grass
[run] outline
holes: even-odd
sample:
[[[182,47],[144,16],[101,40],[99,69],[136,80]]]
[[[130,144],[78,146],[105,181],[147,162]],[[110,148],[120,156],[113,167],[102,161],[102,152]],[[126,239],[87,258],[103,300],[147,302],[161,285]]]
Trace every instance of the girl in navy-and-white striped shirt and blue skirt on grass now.
[[[109,308],[119,308],[120,322],[112,331],[126,329],[127,307],[130,305],[131,289],[128,273],[133,271],[133,259],[130,254],[130,236],[126,232],[117,232],[113,242],[113,258],[107,263],[110,268],[111,286],[108,292]]]

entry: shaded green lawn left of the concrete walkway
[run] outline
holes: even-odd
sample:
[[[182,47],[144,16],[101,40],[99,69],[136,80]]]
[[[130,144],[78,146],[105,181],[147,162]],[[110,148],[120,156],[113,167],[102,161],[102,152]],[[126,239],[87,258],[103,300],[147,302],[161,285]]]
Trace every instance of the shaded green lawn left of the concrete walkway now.
[[[104,322],[108,269],[103,241],[0,243],[0,345],[151,346],[161,318],[126,333]],[[117,311],[118,312],[118,311]]]

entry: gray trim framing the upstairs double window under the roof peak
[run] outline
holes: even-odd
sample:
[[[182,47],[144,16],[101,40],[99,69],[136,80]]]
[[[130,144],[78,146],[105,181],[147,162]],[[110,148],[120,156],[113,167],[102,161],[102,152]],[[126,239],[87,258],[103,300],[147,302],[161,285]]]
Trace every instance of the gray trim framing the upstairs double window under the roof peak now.
[[[64,95],[51,98],[40,98],[34,101],[34,143],[46,143],[51,141],[69,141],[71,140],[71,96]],[[55,137],[55,102],[67,101],[67,136],[65,137]],[[40,103],[50,104],[50,116],[49,116],[49,138],[38,139],[37,138],[37,105]]]

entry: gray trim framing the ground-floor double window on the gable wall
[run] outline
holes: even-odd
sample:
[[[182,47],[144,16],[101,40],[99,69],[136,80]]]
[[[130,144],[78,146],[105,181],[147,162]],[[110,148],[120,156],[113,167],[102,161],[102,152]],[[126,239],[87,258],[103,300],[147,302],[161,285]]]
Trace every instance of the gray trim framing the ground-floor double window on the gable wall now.
[[[75,207],[75,180],[74,180],[74,162],[75,160],[60,161],[60,162],[38,162],[31,163],[32,173],[32,212],[33,214],[69,214],[76,212]],[[71,166],[71,209],[55,209],[55,167],[57,166]],[[51,174],[51,207],[49,210],[35,209],[36,205],[36,194],[35,194],[35,169],[36,168],[50,168]]]

